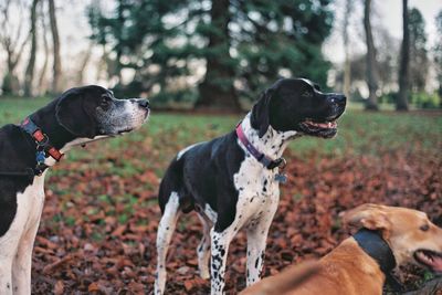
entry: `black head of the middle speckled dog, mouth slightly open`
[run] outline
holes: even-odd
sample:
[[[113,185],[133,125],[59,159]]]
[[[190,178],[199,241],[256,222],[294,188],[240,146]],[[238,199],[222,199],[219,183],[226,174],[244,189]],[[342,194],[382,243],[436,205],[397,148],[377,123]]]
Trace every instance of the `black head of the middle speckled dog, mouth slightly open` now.
[[[305,78],[282,78],[253,106],[251,124],[260,137],[272,126],[277,131],[330,138],[337,133],[336,119],[345,106],[343,94],[323,93]]]

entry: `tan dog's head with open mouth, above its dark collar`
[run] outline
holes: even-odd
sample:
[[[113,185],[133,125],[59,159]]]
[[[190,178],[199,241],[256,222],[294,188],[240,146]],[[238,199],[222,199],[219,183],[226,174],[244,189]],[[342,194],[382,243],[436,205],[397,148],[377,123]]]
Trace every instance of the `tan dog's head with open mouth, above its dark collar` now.
[[[442,272],[442,229],[425,213],[401,207],[362,204],[341,217],[345,223],[380,231],[398,265],[411,262]]]

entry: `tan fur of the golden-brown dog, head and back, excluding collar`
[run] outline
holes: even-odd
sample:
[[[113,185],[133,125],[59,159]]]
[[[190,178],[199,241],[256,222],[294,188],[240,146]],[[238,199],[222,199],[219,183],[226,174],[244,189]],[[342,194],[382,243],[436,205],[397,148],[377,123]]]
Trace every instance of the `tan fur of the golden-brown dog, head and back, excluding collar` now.
[[[362,204],[344,212],[341,217],[344,223],[358,229],[379,230],[390,245],[398,265],[417,263],[413,254],[419,249],[442,252],[442,229],[434,225],[423,212],[400,207]],[[423,231],[422,225],[428,225],[429,230]],[[287,281],[286,273],[283,272],[256,283],[241,294],[382,294],[383,273],[352,238],[346,239],[318,264],[320,270],[313,272],[313,277],[308,280],[303,277],[308,268],[296,271],[297,267],[294,267],[292,281]],[[304,283],[299,284],[303,280]],[[293,282],[296,282],[296,286],[293,286]]]

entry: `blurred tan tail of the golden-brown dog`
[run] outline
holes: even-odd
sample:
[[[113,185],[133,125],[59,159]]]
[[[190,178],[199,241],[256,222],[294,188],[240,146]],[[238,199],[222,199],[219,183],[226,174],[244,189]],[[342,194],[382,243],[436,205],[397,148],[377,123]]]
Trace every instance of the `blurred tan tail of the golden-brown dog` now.
[[[266,277],[245,288],[240,295],[283,295],[306,283],[311,277],[319,273],[320,270],[320,264],[317,261],[290,266],[282,273]]]

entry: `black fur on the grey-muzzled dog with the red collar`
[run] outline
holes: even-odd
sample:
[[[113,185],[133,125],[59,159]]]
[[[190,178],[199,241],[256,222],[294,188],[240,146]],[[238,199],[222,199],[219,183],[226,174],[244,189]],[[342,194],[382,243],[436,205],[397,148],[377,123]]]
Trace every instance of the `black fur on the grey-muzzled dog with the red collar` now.
[[[72,88],[63,93],[43,108],[33,113],[30,118],[45,133],[51,145],[61,149],[66,143],[78,137],[93,138],[103,135],[97,107],[103,103],[103,96],[109,102],[120,103],[113,98],[112,92],[99,86]],[[139,102],[141,107],[147,101]],[[141,105],[143,104],[143,105]],[[6,125],[0,128],[0,171],[19,172],[34,168],[35,143],[32,137],[17,125]],[[17,194],[32,185],[27,177],[0,175],[0,236],[10,228],[17,212]]]

